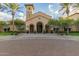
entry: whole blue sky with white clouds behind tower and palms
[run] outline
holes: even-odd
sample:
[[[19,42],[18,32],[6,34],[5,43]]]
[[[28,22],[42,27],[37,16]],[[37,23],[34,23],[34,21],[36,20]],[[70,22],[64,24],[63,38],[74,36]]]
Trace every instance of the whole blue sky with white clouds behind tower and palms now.
[[[19,18],[22,20],[26,19],[26,8],[24,7],[23,3],[20,3],[20,11],[17,11],[15,14],[15,18]],[[52,18],[57,19],[58,17],[62,16],[58,10],[60,9],[60,4],[59,3],[34,3],[34,13],[36,12],[43,12],[46,13]],[[71,8],[72,10],[72,8]],[[6,13],[6,12],[0,12],[0,19],[4,20],[10,20],[11,19],[11,14]]]

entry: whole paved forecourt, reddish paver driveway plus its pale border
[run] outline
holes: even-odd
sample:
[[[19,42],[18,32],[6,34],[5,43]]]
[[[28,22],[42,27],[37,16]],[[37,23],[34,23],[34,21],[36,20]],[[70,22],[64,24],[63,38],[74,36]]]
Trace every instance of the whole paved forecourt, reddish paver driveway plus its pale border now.
[[[0,36],[0,55],[79,55],[78,39],[56,34]]]

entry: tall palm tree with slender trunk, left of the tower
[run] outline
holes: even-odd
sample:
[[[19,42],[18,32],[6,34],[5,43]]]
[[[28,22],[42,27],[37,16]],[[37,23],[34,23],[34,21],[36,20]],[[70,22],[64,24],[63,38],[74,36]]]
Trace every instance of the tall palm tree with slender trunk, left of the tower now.
[[[16,4],[16,3],[5,3],[6,5],[6,8],[9,9],[8,12],[11,12],[11,15],[12,15],[12,27],[13,27],[13,32],[15,31],[14,29],[14,16],[15,16],[15,13],[16,11],[19,9],[19,4]]]

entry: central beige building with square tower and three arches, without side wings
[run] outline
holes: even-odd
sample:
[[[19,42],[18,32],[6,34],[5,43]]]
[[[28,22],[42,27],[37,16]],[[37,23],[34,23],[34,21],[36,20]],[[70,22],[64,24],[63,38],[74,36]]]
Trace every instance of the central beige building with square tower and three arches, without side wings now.
[[[29,32],[38,32],[38,33],[48,31],[47,23],[52,17],[42,12],[33,13],[34,11],[33,4],[26,5],[26,9],[27,9],[26,30]]]

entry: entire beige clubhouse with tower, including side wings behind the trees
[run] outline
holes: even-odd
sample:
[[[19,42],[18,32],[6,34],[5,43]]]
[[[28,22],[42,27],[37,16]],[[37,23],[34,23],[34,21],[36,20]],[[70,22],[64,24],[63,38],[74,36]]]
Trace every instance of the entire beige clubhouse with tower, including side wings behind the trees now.
[[[42,33],[42,32],[50,32],[51,29],[49,29],[48,26],[48,21],[52,19],[51,16],[43,13],[43,12],[37,12],[37,13],[33,13],[34,12],[34,5],[33,4],[26,4],[26,20],[25,20],[25,24],[26,24],[26,30],[30,33]],[[72,18],[74,20],[79,18],[79,13],[75,13],[69,16],[69,18]],[[7,26],[5,26],[4,28],[0,28],[0,31],[5,31],[5,29],[7,28],[7,31],[12,31],[12,24],[9,24]],[[53,30],[53,28],[52,28]],[[72,25],[70,27],[71,31],[79,31],[79,29],[77,27],[75,27],[74,25]],[[16,26],[15,26],[15,31],[18,31]]]

